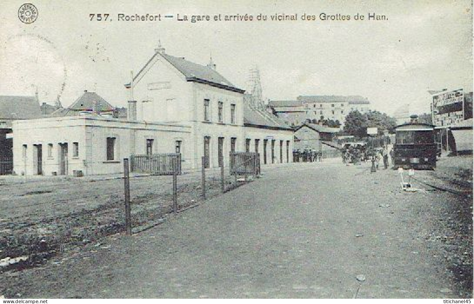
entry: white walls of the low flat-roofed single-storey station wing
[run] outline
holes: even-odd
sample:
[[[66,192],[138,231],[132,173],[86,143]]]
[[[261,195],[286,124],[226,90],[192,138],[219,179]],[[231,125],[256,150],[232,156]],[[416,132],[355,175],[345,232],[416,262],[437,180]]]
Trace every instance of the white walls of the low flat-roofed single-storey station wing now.
[[[154,153],[175,152],[175,141],[182,141],[182,168],[193,168],[191,127],[140,122],[124,122],[100,117],[56,117],[13,123],[13,170],[36,175],[36,146],[43,149],[43,175],[60,174],[60,143],[68,144],[67,172],[81,170],[85,175],[123,172],[123,159],[146,153],[146,139],[154,139]],[[115,137],[114,160],[107,160],[107,137]],[[73,155],[73,143],[79,144]],[[23,145],[27,146],[26,158]],[[53,145],[51,157],[48,145]]]

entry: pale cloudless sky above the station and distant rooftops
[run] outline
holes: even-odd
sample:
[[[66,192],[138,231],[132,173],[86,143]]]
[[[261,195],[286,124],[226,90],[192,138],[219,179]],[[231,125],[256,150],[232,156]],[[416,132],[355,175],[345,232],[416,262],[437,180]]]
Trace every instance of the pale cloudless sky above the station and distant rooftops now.
[[[126,106],[123,84],[161,42],[167,54],[207,64],[230,82],[250,89],[258,67],[263,97],[361,95],[372,108],[429,112],[428,90],[473,90],[472,3],[413,1],[46,1],[30,24],[18,18],[23,1],[0,11],[0,95],[34,95],[63,106],[84,89]],[[91,21],[90,14],[109,14]],[[350,16],[321,20],[320,14]],[[367,20],[369,13],[386,20]],[[162,21],[119,21],[118,14],[161,14]],[[177,15],[210,21],[178,21]],[[214,21],[214,15],[252,15],[252,21]],[[256,20],[262,14],[267,20]],[[271,20],[296,14],[297,20]],[[302,20],[303,14],[316,20]],[[354,20],[355,15],[365,20]],[[173,15],[173,18],[163,18]],[[336,18],[336,17],[335,17]],[[111,19],[111,20],[110,20]]]

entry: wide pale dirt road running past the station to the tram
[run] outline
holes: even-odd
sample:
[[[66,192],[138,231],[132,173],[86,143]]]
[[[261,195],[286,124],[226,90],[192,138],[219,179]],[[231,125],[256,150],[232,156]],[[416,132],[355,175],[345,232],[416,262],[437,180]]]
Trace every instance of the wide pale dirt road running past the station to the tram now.
[[[41,267],[3,273],[2,292],[37,298],[472,297],[466,287],[472,286],[472,220],[463,219],[472,198],[422,184],[415,186],[427,191],[403,192],[397,171],[370,173],[368,163],[298,163],[264,173],[132,237],[112,235]],[[429,171],[416,174],[436,180]]]

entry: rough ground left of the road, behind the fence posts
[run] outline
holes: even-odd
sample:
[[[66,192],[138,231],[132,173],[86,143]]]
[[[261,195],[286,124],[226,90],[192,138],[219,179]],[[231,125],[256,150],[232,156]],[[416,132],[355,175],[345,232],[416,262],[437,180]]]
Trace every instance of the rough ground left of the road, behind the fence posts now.
[[[220,171],[206,174],[206,197],[215,197],[221,193]],[[199,204],[201,172],[177,180],[179,208]],[[233,181],[227,174],[225,187],[233,188]],[[119,176],[0,179],[0,259],[28,257],[0,271],[38,266],[59,252],[122,232],[123,184]],[[171,176],[131,177],[134,232],[161,223],[172,212],[172,189]]]

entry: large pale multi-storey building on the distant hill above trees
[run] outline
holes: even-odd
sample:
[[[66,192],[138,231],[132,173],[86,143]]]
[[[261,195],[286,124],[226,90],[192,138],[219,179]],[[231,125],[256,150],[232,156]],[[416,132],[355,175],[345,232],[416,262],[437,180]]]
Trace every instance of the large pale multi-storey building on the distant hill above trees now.
[[[289,125],[300,125],[309,119],[338,121],[342,127],[351,111],[368,112],[370,101],[362,96],[314,95],[298,96],[296,100],[274,100],[269,106]]]

